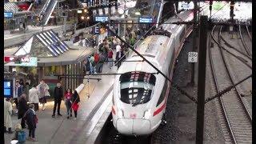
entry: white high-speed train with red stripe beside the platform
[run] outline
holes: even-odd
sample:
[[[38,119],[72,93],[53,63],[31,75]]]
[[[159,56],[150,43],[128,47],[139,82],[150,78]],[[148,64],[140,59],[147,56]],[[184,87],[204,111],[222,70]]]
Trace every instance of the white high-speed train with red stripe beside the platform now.
[[[192,10],[187,10],[167,23],[192,19]],[[165,34],[148,36],[136,50],[171,79],[175,59],[191,28],[191,25],[163,24]],[[141,61],[142,58],[134,53],[126,60]],[[113,92],[114,127],[125,135],[151,134],[162,122],[170,82],[147,62],[123,62],[118,74],[121,75],[115,77]]]

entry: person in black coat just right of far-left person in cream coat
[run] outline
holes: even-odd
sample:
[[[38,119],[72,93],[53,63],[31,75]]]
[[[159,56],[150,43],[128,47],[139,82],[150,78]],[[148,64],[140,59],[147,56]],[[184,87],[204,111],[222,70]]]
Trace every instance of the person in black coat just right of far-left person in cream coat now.
[[[26,94],[22,94],[20,100],[18,101],[18,119],[22,118],[22,129],[26,128],[24,114],[26,114],[26,110],[28,110],[27,102],[26,102]]]

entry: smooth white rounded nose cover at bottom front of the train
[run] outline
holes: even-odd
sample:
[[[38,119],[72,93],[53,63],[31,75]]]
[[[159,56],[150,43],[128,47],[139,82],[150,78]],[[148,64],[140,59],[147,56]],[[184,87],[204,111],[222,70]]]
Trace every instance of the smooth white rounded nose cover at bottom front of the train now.
[[[151,133],[151,122],[147,119],[128,119],[117,120],[117,130],[121,134],[144,135]]]

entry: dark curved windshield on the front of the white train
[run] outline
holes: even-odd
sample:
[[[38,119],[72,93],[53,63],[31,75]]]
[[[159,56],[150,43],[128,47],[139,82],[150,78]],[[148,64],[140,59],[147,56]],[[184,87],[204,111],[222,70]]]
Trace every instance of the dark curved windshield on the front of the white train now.
[[[129,72],[119,78],[121,101],[132,106],[149,102],[155,85],[154,74]]]

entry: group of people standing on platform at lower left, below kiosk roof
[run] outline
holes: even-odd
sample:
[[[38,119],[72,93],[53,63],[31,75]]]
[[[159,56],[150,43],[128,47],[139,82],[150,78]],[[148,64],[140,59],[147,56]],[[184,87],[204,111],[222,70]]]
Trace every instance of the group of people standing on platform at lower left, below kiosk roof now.
[[[12,130],[12,120],[11,115],[13,114],[13,102],[16,105],[16,114],[18,114],[18,119],[21,119],[21,123],[15,126],[15,134],[13,140],[18,140],[20,143],[24,143],[26,140],[36,142],[35,130],[38,123],[38,116],[36,111],[39,110],[39,102],[42,103],[42,110],[46,109],[47,97],[50,97],[49,86],[41,80],[38,86],[34,85],[30,89],[29,83],[24,82],[22,79],[16,81],[15,83],[15,93],[13,98],[5,98],[4,100],[4,132],[8,134],[13,134]],[[67,89],[63,93],[63,88],[61,82],[57,83],[54,88],[54,110],[52,118],[55,118],[55,111],[57,108],[58,116],[62,116],[60,113],[60,106],[62,99],[66,104],[66,116],[67,118],[72,117],[72,110],[74,110],[74,118],[77,118],[78,107],[80,103],[80,98],[78,92],[74,90]],[[28,129],[28,138],[26,138],[26,132],[24,129]],[[25,139],[24,139],[25,138]]]

